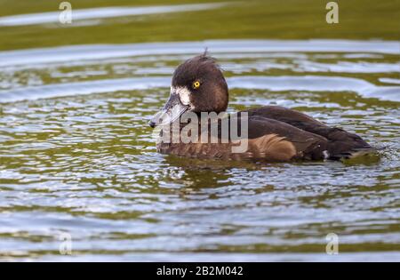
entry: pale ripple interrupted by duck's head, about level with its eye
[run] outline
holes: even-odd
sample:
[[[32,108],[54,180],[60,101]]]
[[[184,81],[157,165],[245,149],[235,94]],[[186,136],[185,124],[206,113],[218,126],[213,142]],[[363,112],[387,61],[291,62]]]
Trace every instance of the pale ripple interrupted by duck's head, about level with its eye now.
[[[367,98],[400,101],[400,86],[377,86],[361,79],[340,76],[231,76],[230,88],[260,89],[272,92],[357,92]],[[46,84],[43,86],[1,91],[0,102],[37,100],[82,94],[168,88],[169,77],[154,76],[92,82]],[[165,90],[167,91],[167,90]]]

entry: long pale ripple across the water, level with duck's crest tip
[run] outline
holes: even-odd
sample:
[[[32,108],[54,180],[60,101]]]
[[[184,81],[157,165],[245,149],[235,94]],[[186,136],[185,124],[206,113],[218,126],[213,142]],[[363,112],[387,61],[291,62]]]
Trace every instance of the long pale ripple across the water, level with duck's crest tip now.
[[[44,49],[0,52],[0,67],[73,60],[104,60],[129,56],[229,52],[378,52],[398,54],[397,41],[346,40],[218,40],[148,44],[85,44]]]

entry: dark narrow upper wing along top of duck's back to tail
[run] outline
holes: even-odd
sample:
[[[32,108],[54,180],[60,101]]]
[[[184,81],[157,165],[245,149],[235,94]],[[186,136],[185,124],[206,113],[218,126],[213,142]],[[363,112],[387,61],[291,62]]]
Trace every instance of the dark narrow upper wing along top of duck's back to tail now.
[[[285,124],[291,124],[300,130],[323,136],[327,140],[336,142],[343,151],[372,148],[360,136],[346,132],[337,127],[330,127],[317,121],[311,116],[280,106],[265,106],[247,110],[249,116],[264,116]]]

